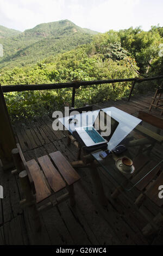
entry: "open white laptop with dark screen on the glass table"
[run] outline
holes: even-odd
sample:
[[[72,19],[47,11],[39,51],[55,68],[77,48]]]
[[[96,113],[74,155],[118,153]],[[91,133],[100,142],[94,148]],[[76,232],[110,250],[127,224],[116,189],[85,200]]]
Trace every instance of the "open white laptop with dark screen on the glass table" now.
[[[78,137],[80,143],[83,142],[82,144],[87,148],[106,146],[119,124],[118,121],[110,116],[107,119],[107,115],[104,111],[99,111],[93,125],[76,127],[73,132],[74,137]],[[108,123],[106,122],[107,120],[109,120]],[[109,129],[109,134],[106,132],[106,127]]]

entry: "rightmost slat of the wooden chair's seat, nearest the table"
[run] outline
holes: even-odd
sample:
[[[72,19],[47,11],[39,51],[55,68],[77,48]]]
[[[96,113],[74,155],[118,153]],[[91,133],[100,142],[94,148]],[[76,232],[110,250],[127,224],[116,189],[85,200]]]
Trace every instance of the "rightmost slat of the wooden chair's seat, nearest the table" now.
[[[65,159],[65,157],[60,153],[60,151],[55,151],[51,154],[51,159],[56,164],[59,172],[61,173],[62,177],[65,179],[68,185],[72,185],[74,182],[80,179],[80,176],[73,169],[71,164]]]

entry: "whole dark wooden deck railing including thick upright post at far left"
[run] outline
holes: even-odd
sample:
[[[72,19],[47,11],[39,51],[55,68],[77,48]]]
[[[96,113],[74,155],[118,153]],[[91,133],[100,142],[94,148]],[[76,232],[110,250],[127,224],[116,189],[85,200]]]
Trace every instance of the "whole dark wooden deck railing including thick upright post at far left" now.
[[[14,133],[10,123],[7,106],[4,100],[4,93],[8,92],[23,92],[28,90],[49,90],[49,89],[61,89],[61,88],[73,88],[72,90],[72,107],[74,107],[74,99],[76,89],[80,86],[92,86],[94,84],[109,84],[118,82],[133,82],[130,88],[130,94],[128,100],[130,100],[131,94],[134,90],[135,83],[141,83],[144,81],[160,80],[163,76],[155,76],[149,78],[128,78],[128,79],[113,79],[113,80],[97,80],[97,81],[73,81],[71,83],[53,83],[53,84],[21,84],[13,86],[0,86],[0,170],[8,169],[13,166],[11,149],[16,147]]]

